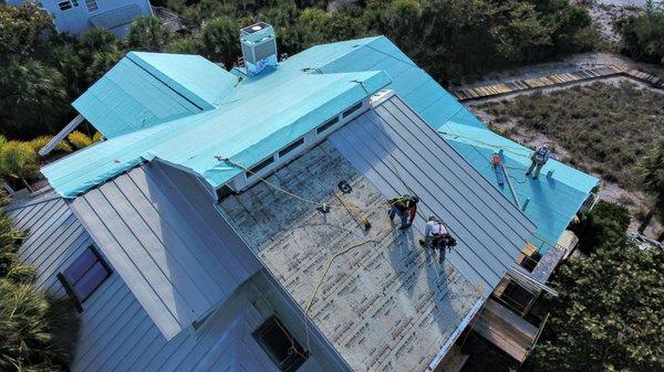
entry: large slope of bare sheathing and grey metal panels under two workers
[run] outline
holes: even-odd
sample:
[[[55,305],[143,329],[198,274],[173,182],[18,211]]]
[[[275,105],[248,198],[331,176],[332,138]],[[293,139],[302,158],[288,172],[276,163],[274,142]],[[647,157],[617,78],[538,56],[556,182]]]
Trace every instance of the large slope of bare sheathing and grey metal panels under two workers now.
[[[329,213],[261,182],[219,209],[353,370],[424,371],[535,230],[477,176],[394,96],[268,179]],[[330,194],[341,180],[369,231]],[[403,182],[421,198],[405,232],[386,213],[387,199],[409,192]],[[457,238],[443,264],[417,243],[429,214]]]

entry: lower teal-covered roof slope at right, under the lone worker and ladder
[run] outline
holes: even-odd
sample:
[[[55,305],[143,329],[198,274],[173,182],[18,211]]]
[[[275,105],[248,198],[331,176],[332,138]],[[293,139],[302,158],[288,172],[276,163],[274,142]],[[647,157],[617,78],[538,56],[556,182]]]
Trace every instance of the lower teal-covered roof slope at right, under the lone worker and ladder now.
[[[538,226],[536,236],[539,240],[532,243],[540,253],[546,253],[550,245],[558,242],[599,180],[554,159],[547,161],[539,179],[533,180],[526,177],[532,150],[488,128],[456,123],[455,119],[444,124],[438,132],[506,198],[516,203],[510,184],[498,184],[490,162],[494,153],[502,150],[504,164],[519,205],[526,205],[523,212]]]

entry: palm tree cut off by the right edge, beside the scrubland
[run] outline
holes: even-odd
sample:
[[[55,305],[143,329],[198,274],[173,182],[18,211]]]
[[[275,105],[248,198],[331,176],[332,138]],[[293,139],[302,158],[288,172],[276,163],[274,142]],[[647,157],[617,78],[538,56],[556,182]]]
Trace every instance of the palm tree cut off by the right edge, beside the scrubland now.
[[[636,169],[643,190],[655,198],[655,203],[639,226],[639,232],[643,233],[657,211],[664,214],[664,136],[651,144]]]

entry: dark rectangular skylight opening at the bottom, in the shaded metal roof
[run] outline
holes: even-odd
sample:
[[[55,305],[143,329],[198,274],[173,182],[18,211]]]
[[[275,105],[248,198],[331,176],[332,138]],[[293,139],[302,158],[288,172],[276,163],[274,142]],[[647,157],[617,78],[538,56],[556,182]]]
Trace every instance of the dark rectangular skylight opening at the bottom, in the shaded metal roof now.
[[[251,336],[280,371],[294,372],[309,358],[309,351],[304,351],[276,316],[266,320]]]

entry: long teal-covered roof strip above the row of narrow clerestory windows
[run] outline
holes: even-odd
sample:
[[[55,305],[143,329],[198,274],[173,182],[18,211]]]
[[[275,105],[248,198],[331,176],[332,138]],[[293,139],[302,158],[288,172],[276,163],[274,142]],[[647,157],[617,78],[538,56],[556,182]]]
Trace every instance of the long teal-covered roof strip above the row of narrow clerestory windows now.
[[[251,167],[390,82],[384,72],[312,74],[284,63],[245,78],[216,109],[110,138],[46,166],[42,173],[61,195],[74,198],[159,158],[217,188],[241,170],[215,157]]]

